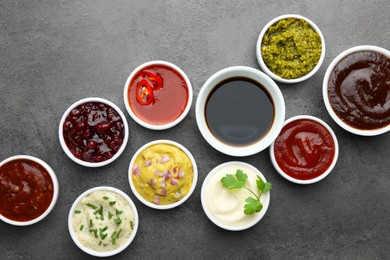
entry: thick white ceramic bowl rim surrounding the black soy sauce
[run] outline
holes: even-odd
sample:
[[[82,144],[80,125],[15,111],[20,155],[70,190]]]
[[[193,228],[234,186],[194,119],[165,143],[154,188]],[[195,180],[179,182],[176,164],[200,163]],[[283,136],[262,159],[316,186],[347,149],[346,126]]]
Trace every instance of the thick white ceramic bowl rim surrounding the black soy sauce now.
[[[217,139],[208,128],[205,116],[205,106],[208,96],[221,81],[232,77],[246,77],[260,83],[270,94],[274,105],[274,121],[268,133],[254,144],[248,146],[231,146]],[[196,122],[204,139],[216,150],[232,156],[249,156],[267,148],[278,136],[285,117],[285,104],[282,92],[276,83],[263,72],[245,66],[229,67],[212,75],[201,88],[196,101]]]

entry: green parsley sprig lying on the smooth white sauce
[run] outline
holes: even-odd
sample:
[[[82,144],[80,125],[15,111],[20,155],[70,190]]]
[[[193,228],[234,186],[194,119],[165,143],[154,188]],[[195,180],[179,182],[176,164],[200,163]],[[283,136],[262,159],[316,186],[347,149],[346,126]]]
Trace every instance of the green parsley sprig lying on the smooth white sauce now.
[[[263,204],[260,202],[261,194],[270,191],[272,189],[272,184],[270,182],[264,182],[260,176],[257,176],[256,186],[259,189],[259,195],[257,195],[255,192],[245,186],[247,179],[248,175],[245,174],[242,170],[237,169],[235,176],[232,174],[226,174],[226,176],[221,179],[221,182],[222,185],[229,190],[244,188],[255,196],[255,198],[246,198],[246,204],[244,205],[244,213],[246,215],[252,215],[254,213],[260,212],[263,208]]]

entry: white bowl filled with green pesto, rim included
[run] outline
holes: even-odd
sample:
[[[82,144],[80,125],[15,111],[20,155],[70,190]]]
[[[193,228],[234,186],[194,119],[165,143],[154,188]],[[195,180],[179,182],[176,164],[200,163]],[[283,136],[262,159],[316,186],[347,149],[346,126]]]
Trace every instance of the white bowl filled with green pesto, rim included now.
[[[261,69],[281,83],[298,83],[313,76],[325,57],[325,40],[308,18],[287,14],[271,20],[256,44]]]

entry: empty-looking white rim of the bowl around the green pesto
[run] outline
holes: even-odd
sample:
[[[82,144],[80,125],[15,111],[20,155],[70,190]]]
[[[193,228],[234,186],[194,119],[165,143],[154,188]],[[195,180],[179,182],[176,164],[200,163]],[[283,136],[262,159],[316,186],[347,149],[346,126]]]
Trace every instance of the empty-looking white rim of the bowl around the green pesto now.
[[[268,67],[267,65],[265,64],[264,60],[263,60],[263,55],[262,55],[262,52],[261,52],[261,45],[262,45],[262,42],[263,42],[263,37],[264,37],[264,34],[267,32],[268,28],[275,24],[276,22],[280,21],[280,20],[283,20],[283,19],[286,19],[286,18],[297,18],[297,19],[304,19],[308,24],[310,24],[310,26],[318,33],[318,35],[321,37],[321,45],[322,45],[322,50],[321,50],[321,56],[320,56],[320,59],[317,63],[317,65],[309,72],[307,73],[306,75],[300,77],[300,78],[295,78],[295,79],[284,79],[278,75],[276,75],[275,73],[273,73]],[[322,62],[324,61],[324,58],[325,58],[325,39],[324,39],[324,35],[322,34],[322,32],[320,31],[320,29],[317,27],[317,25],[315,23],[313,23],[310,19],[306,18],[306,17],[303,17],[301,15],[297,15],[297,14],[286,14],[286,15],[281,15],[281,16],[278,16],[274,19],[272,19],[269,23],[267,23],[263,30],[261,30],[260,32],[260,35],[259,35],[259,38],[257,40],[257,44],[256,44],[256,56],[257,56],[257,61],[259,62],[259,65],[261,67],[261,69],[268,75],[270,76],[271,78],[273,78],[274,80],[278,81],[278,82],[281,82],[281,83],[285,83],[285,84],[294,84],[294,83],[298,83],[298,82],[302,82],[302,81],[305,81],[307,79],[309,79],[311,76],[313,76],[318,70],[319,68],[321,67],[322,65]]]

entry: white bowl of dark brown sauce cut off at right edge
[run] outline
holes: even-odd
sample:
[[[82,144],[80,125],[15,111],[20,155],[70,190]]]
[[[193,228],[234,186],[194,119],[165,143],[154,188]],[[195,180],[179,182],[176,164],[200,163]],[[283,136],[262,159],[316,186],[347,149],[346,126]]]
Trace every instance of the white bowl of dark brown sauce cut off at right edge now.
[[[390,51],[357,46],[339,54],[323,82],[326,109],[345,130],[374,136],[390,130]]]

